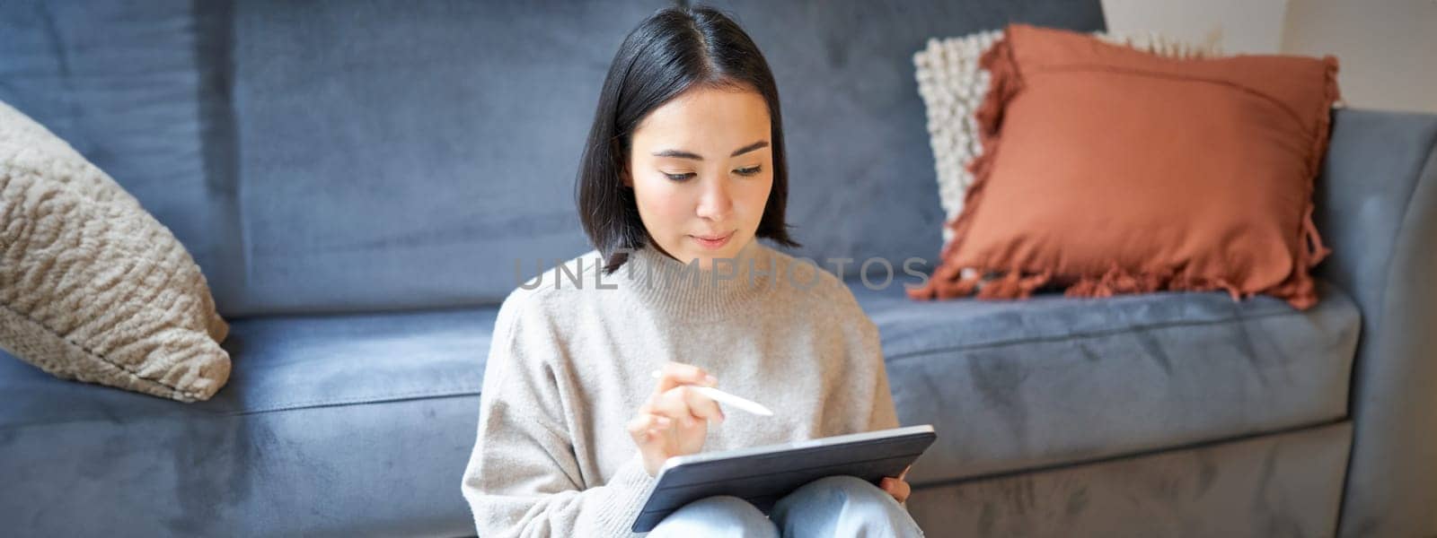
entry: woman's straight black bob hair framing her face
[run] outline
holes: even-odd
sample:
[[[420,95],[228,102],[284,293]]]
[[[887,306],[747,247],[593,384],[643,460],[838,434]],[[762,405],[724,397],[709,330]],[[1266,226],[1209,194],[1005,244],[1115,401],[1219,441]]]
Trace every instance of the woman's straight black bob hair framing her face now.
[[[579,162],[579,221],[608,260],[605,273],[628,261],[616,251],[638,250],[652,240],[639,220],[632,188],[624,185],[634,131],[650,112],[691,88],[750,89],[763,96],[772,128],[773,187],[756,235],[799,247],[783,221],[789,169],[779,88],[769,63],[749,34],[718,10],[670,7],[644,19],[614,55]]]

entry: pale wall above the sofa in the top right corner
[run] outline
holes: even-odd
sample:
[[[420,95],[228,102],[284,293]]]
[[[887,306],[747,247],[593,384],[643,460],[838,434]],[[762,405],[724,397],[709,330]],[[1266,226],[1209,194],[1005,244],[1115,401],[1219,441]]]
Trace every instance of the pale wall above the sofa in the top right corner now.
[[[1332,55],[1348,106],[1437,112],[1437,0],[1102,0],[1108,29]]]

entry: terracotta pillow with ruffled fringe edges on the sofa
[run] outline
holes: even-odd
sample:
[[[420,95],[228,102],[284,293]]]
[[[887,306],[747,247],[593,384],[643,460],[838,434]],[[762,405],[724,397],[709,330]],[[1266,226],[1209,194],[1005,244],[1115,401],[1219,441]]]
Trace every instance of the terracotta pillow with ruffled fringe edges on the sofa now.
[[[983,56],[983,155],[912,298],[1226,290],[1316,303],[1312,184],[1336,59],[1167,59],[1013,24]],[[979,288],[984,277],[997,275]]]

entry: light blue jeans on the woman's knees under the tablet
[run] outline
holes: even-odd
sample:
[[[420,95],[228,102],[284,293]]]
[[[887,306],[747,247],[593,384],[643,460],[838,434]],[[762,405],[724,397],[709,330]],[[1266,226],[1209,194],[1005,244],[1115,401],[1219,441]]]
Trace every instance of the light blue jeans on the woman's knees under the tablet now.
[[[779,499],[767,516],[747,501],[714,495],[658,522],[650,538],[697,537],[923,537],[892,495],[856,476],[826,476]]]

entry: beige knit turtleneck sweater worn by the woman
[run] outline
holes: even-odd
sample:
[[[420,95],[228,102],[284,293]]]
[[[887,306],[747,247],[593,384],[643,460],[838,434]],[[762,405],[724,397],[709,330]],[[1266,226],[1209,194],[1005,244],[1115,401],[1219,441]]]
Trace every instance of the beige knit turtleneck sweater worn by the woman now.
[[[631,535],[654,478],[625,422],[670,360],[776,413],[726,407],[704,452],[898,426],[878,329],[832,274],[757,241],[717,271],[650,247],[596,280],[599,261],[500,307],[463,482],[480,537]]]

